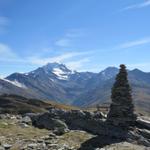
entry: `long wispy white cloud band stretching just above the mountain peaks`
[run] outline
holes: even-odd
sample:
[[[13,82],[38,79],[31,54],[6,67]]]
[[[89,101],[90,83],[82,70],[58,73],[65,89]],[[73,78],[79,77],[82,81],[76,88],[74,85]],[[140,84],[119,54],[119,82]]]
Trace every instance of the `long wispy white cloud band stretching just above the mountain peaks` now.
[[[43,52],[39,53],[37,55],[33,54],[30,57],[29,56],[24,56],[22,58],[18,54],[15,53],[15,51],[10,48],[7,44],[0,43],[0,61],[4,62],[6,64],[19,64],[19,65],[30,65],[30,66],[42,66],[47,63],[51,62],[58,62],[58,63],[64,63],[66,64],[69,68],[73,70],[78,70],[78,71],[85,71],[85,70],[99,70],[99,68],[104,68],[103,66],[95,66],[91,67],[88,66],[89,62],[93,60],[93,56],[95,54],[100,54],[100,53],[111,53],[111,52],[118,52],[118,51],[123,51],[129,48],[133,47],[139,47],[143,46],[146,44],[150,44],[150,37],[147,38],[142,38],[139,40],[134,40],[134,41],[129,41],[125,43],[118,44],[117,46],[112,47],[111,49],[104,49],[104,50],[93,50],[93,51],[84,51],[84,52],[62,52],[60,51],[59,53],[54,53],[53,56],[50,55],[50,53]],[[49,49],[48,49],[49,50]],[[47,55],[43,55],[43,53],[46,53]],[[88,67],[86,67],[88,66]],[[149,63],[140,63],[140,64],[129,64],[129,68],[140,68],[142,70],[145,70],[145,68],[149,68],[150,64]],[[91,67],[91,69],[90,69]],[[93,69],[94,68],[94,69]],[[147,69],[148,70],[148,69]]]

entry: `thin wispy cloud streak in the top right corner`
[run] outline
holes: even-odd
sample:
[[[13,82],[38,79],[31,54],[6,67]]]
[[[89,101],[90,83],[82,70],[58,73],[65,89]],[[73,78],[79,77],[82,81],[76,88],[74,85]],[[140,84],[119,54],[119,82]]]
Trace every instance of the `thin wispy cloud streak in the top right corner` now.
[[[150,0],[145,0],[143,3],[137,3],[123,8],[121,11],[131,10],[131,9],[140,9],[150,6]]]

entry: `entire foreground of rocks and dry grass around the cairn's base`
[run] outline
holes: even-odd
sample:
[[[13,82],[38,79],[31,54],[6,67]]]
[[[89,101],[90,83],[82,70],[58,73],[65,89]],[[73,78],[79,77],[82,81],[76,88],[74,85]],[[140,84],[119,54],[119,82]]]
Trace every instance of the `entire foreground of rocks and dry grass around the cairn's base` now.
[[[125,149],[126,142],[130,143],[127,150],[149,150],[150,147],[150,121],[143,118],[138,118],[128,130],[106,122],[103,113],[81,110],[52,108],[42,114],[1,114],[0,118],[2,150]]]

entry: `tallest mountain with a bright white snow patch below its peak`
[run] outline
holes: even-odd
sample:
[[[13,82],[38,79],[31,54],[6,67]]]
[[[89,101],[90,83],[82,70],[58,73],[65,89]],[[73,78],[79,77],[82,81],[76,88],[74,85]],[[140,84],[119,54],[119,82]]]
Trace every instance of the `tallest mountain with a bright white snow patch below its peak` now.
[[[63,64],[48,63],[28,73],[14,73],[6,78],[36,92],[39,98],[56,101],[74,100],[85,88],[94,73],[71,71]],[[71,101],[72,102],[72,101]]]

